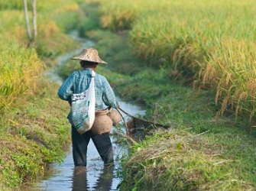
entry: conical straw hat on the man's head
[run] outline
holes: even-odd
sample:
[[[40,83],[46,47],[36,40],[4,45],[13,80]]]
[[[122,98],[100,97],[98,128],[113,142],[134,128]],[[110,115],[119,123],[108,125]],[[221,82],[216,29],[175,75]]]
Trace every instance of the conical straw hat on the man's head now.
[[[85,60],[93,63],[105,63],[104,60],[101,60],[98,54],[98,51],[93,48],[83,49],[82,53],[78,57],[73,57],[72,60]]]

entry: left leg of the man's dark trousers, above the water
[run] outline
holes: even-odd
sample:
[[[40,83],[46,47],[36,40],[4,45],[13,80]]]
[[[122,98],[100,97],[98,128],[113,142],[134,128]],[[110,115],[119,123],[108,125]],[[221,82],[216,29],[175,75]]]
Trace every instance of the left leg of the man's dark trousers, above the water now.
[[[72,144],[73,144],[73,161],[76,167],[86,167],[87,145],[90,140],[90,132],[79,134],[74,126],[72,126]]]

